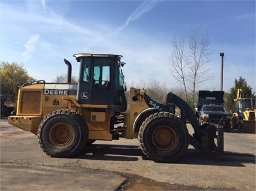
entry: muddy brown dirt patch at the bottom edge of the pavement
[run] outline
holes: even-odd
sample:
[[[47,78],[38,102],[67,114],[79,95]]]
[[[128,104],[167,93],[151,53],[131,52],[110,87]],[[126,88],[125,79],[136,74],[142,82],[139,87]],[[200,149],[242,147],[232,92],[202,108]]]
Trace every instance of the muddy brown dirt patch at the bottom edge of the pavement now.
[[[135,174],[118,173],[126,178],[117,190],[235,190],[234,188],[212,188],[161,183]]]

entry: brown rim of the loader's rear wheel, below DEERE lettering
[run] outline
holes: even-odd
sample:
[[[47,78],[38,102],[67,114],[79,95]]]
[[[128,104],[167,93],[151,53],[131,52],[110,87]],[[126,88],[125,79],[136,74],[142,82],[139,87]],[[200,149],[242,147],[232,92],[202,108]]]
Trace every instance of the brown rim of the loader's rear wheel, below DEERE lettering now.
[[[66,123],[56,123],[49,132],[50,142],[53,145],[64,146],[72,141],[73,131]]]

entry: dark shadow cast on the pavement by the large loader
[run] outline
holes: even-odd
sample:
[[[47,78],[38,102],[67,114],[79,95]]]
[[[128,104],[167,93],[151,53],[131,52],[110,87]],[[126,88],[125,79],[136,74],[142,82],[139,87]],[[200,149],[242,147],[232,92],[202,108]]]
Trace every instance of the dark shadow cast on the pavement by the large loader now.
[[[110,161],[138,161],[150,160],[136,145],[92,144],[85,148],[79,159],[110,160]],[[255,155],[246,153],[224,152],[221,160],[210,159],[209,156],[194,148],[187,148],[177,163],[186,165],[236,166],[244,167],[243,163],[255,163]]]

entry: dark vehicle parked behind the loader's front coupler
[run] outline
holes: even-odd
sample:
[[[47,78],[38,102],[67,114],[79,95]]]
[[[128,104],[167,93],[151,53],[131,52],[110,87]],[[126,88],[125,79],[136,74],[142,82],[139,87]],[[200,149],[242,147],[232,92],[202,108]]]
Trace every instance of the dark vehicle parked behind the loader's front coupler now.
[[[227,113],[225,108],[220,105],[203,105],[199,112],[198,122],[200,125],[204,123],[218,124],[221,118],[224,117],[224,129],[231,131],[231,114]]]

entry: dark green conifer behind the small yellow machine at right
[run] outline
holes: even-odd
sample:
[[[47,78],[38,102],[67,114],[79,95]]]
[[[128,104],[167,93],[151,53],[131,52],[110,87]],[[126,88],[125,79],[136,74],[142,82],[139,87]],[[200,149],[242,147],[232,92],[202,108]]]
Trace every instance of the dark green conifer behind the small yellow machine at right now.
[[[242,89],[242,98],[253,98],[255,96],[255,92],[252,92],[252,87],[248,86],[245,78],[239,77],[234,81],[234,87],[231,87],[230,94],[227,95],[226,108],[228,111],[235,111],[234,107],[234,99],[237,96],[237,89]]]

